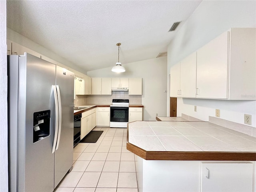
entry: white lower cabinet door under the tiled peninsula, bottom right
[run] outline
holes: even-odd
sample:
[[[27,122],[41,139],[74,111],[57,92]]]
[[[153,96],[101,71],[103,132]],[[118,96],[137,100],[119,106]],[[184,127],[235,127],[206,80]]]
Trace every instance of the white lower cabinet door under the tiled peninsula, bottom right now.
[[[202,192],[252,192],[253,164],[202,163]]]

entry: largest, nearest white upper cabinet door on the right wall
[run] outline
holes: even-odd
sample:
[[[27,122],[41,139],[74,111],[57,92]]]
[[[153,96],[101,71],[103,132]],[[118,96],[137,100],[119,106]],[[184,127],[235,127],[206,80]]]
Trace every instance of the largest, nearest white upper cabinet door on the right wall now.
[[[197,51],[198,98],[228,98],[229,32]]]

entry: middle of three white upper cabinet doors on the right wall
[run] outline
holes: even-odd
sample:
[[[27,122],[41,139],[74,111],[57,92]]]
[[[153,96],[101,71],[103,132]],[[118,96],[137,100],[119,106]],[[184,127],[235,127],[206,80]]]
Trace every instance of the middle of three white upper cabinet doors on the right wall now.
[[[196,52],[180,62],[180,96],[196,97]]]

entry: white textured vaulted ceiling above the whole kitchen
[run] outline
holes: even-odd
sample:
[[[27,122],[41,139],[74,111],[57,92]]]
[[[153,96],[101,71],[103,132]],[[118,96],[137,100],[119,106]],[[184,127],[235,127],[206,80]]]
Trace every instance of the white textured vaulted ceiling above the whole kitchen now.
[[[202,0],[7,0],[7,27],[85,71],[156,58]],[[174,22],[176,31],[168,32]]]

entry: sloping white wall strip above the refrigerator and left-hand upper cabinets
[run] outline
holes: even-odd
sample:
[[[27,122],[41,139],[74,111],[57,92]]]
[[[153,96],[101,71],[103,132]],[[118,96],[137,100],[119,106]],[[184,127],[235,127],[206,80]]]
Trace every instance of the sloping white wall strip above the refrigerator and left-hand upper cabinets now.
[[[29,48],[35,52],[38,52],[48,58],[51,58],[52,60],[55,60],[61,64],[64,64],[70,68],[73,68],[74,70],[77,70],[81,73],[86,74],[86,71],[82,68],[76,66],[76,64],[66,60],[65,58],[62,58],[52,52],[51,50],[48,50],[47,48],[44,48],[43,46],[40,46],[39,44],[35,43],[34,41],[22,36],[21,34],[18,34],[14,30],[11,30],[10,28],[7,28],[7,39],[16,42],[26,48]],[[67,56],[68,58],[68,56]]]

